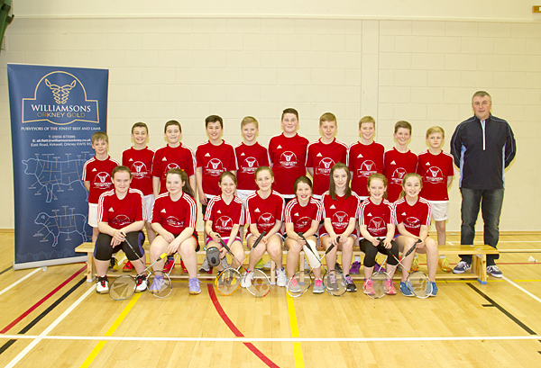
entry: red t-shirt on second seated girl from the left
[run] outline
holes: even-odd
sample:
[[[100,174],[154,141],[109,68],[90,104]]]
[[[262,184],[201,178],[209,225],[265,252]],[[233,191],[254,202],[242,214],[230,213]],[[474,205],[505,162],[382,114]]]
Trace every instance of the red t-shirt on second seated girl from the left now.
[[[182,193],[177,202],[173,202],[170,193],[162,193],[156,198],[152,209],[151,222],[157,222],[163,229],[179,236],[186,228],[196,231],[197,204],[188,193]]]

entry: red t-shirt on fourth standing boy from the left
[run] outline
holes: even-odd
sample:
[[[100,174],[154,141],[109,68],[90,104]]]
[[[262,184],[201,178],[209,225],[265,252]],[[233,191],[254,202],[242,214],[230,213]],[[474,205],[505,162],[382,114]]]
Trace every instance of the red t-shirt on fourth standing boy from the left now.
[[[196,149],[197,167],[202,168],[203,193],[211,196],[220,195],[220,175],[225,171],[237,169],[234,149],[229,143],[222,143],[218,146],[206,141],[197,146]]]

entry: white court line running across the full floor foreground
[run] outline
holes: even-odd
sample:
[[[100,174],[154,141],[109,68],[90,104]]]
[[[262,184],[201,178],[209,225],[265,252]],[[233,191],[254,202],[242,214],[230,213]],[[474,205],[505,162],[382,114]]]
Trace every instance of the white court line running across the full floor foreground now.
[[[160,341],[160,342],[290,342],[290,343],[379,343],[411,341],[484,341],[484,340],[540,340],[541,335],[511,337],[72,337],[41,335],[3,335],[0,338],[40,340],[98,340],[98,341]]]

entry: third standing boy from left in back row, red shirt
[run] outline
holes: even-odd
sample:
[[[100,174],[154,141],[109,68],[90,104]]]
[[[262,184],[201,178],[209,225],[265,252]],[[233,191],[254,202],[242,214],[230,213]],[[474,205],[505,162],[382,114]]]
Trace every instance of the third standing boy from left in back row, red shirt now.
[[[194,152],[188,146],[180,142],[182,138],[182,127],[179,121],[167,121],[163,135],[167,139],[167,145],[156,149],[152,157],[152,192],[154,198],[161,193],[167,193],[166,176],[171,168],[179,168],[188,175],[188,184],[196,193],[196,163]],[[175,266],[173,256],[168,256],[163,271],[168,274]]]

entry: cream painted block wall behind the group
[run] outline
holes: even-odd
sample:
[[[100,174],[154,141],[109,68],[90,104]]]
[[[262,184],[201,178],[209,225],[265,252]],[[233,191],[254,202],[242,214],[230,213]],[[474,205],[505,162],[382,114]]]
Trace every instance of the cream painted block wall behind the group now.
[[[338,5],[328,18],[315,19],[301,17],[300,3],[288,8],[298,16],[281,18],[246,17],[252,9],[239,10],[239,2],[213,9],[243,16],[215,18],[174,17],[178,6],[172,6],[168,17],[135,18],[129,15],[135,5],[125,13],[119,5],[107,9],[118,18],[92,17],[96,8],[67,1],[55,2],[62,6],[53,7],[58,13],[53,15],[41,2],[31,3],[15,4],[15,13],[27,16],[17,16],[7,28],[7,50],[0,53],[0,126],[5,131],[0,136],[5,171],[0,185],[7,193],[0,229],[14,227],[8,62],[109,68],[108,132],[116,158],[130,146],[129,130],[135,121],[149,124],[149,145],[158,148],[165,143],[164,122],[177,119],[183,142],[195,148],[206,139],[207,115],[224,117],[225,139],[235,144],[241,140],[241,119],[253,115],[261,124],[260,140],[267,143],[280,132],[280,112],[286,107],[298,109],[300,132],[309,139],[318,137],[319,116],[335,112],[338,138],[348,144],[358,139],[357,121],[363,115],[376,118],[378,140],[388,148],[393,145],[394,123],[410,121],[410,148],[419,152],[426,149],[426,128],[441,125],[450,139],[457,123],[472,115],[472,94],[484,89],[492,94],[494,115],[510,122],[518,140],[518,156],[506,174],[500,228],[539,229],[541,23],[515,22],[531,18],[531,5],[529,14],[520,15],[509,9],[510,2],[478,2],[480,7],[498,4],[488,15],[502,18],[507,10],[509,21],[462,22],[382,20],[398,16],[391,9],[381,20],[333,19],[348,10],[346,4]],[[421,2],[408,2],[417,3]],[[202,11],[204,4],[210,3],[186,13]],[[368,6],[348,4],[348,14],[357,14],[353,7],[359,12]],[[466,2],[449,9],[433,4],[418,14],[439,19],[478,12],[463,12],[457,4]],[[369,15],[382,12],[381,5],[371,6]],[[165,9],[153,7],[151,13]],[[324,13],[323,2],[309,9]],[[73,13],[78,16],[70,17]],[[455,181],[448,229],[460,229],[459,208]]]

